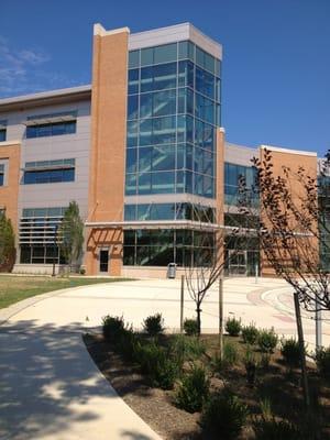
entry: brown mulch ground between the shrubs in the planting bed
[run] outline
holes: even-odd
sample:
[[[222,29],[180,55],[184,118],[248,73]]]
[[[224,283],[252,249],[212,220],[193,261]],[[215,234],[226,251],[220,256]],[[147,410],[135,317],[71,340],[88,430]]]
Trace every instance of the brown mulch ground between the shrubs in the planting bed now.
[[[218,349],[218,338],[204,336],[202,339],[207,342],[207,356],[210,358]],[[227,339],[234,341],[243,355],[246,345],[238,338]],[[176,408],[173,405],[173,392],[148,386],[146,378],[139,373],[139,370],[114,353],[101,334],[86,334],[84,341],[90,356],[117,393],[164,440],[202,439],[198,424],[200,415]],[[230,384],[234,394],[244,400],[252,417],[261,414],[261,398],[268,397],[276,417],[287,418],[298,426],[304,421],[299,371],[295,371],[289,376],[278,351],[272,355],[268,369],[257,373],[253,388],[246,383],[242,364],[221,372],[221,378],[212,377],[211,388],[223,386],[223,382]],[[315,424],[315,430],[319,432],[319,437],[315,438],[330,439],[330,386],[319,380],[312,364],[309,364],[309,382],[312,399],[321,403],[319,418]],[[320,429],[321,425],[322,429]],[[250,418],[240,439],[253,438]]]

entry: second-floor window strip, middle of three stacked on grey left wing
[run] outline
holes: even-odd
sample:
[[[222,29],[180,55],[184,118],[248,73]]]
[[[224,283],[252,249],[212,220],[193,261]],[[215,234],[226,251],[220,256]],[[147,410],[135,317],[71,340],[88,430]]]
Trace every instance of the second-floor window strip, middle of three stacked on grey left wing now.
[[[26,162],[24,185],[75,180],[75,160]]]

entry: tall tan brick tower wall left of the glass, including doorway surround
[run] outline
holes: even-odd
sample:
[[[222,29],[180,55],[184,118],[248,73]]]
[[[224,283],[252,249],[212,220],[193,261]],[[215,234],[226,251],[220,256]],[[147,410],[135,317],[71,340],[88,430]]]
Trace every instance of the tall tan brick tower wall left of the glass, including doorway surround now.
[[[123,220],[128,40],[124,30],[94,36],[89,221]],[[109,274],[120,275],[122,231],[87,233],[87,274],[98,273],[98,248],[109,245]]]

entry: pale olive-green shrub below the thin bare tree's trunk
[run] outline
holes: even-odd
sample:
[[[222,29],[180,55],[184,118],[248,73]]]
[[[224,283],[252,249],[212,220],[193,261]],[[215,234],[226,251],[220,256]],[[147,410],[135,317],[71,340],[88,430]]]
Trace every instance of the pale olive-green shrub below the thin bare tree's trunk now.
[[[173,337],[169,350],[182,365],[185,361],[194,361],[205,354],[206,345],[199,338],[176,334]]]

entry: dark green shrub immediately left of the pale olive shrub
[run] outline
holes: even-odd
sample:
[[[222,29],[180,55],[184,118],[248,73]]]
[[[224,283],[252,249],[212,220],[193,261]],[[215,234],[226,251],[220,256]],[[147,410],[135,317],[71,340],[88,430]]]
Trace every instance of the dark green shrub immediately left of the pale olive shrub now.
[[[153,386],[172,389],[179,375],[179,364],[168,356],[162,346],[154,342],[138,345],[136,360],[142,373],[150,377]]]

